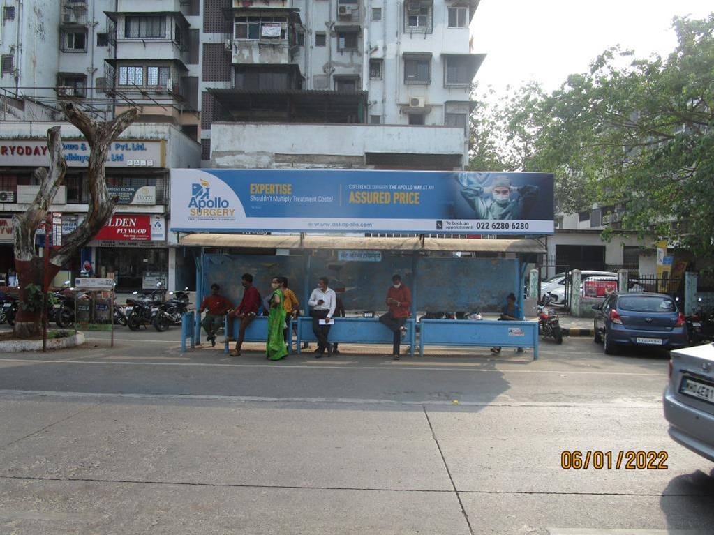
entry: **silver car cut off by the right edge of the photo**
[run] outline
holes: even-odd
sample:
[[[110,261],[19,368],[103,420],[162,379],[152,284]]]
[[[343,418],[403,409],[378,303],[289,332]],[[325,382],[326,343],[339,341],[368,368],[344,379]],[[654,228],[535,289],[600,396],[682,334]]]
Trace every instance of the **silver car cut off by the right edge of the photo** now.
[[[714,344],[670,355],[663,399],[670,437],[714,462]]]

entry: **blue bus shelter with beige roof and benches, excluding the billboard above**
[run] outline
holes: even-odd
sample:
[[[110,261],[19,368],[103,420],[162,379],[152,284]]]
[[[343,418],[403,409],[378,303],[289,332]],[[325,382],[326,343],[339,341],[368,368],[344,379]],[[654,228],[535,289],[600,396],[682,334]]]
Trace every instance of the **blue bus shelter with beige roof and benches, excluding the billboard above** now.
[[[272,277],[288,277],[291,288],[301,298],[303,317],[308,297],[322,276],[330,279],[330,286],[338,292],[346,310],[369,315],[386,310],[386,290],[392,275],[398,273],[411,290],[411,317],[415,321],[423,312],[498,312],[511,292],[523,310],[526,265],[535,260],[535,255],[545,252],[543,244],[533,239],[465,240],[421,236],[195,233],[181,237],[179,243],[201,248],[196,262],[196,308],[213,283],[218,283],[221,294],[237,305],[243,292],[241,275],[247,272],[253,275],[253,284],[261,294],[270,287]],[[353,323],[356,321],[351,319]],[[303,323],[305,329],[298,330],[298,336],[301,332],[309,333],[308,320]],[[510,330],[504,328],[503,323],[493,328],[494,322],[489,321],[475,324],[462,320],[422,320],[420,323],[411,324],[406,340],[414,350],[416,328],[421,327],[420,352],[424,343],[537,345],[537,341],[533,341],[534,336],[537,338],[537,325],[533,322],[525,326],[514,322]],[[348,335],[346,340],[383,343],[382,336],[372,337],[369,333],[375,330],[376,335],[385,335],[386,330],[381,332],[380,327],[369,322],[351,327],[355,334]],[[194,329],[198,340],[199,317],[195,319]]]

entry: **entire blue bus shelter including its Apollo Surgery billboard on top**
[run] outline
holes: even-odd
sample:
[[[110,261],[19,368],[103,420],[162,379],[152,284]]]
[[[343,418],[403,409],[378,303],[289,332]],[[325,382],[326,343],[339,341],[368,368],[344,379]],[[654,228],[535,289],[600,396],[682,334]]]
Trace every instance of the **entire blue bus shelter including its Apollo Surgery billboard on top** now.
[[[378,312],[398,273],[413,297],[413,351],[418,312],[498,312],[511,292],[523,310],[527,255],[544,248],[517,237],[553,233],[553,175],[174,169],[171,230],[191,233],[180,245],[201,248],[198,300],[213,282],[237,300],[244,272],[263,291],[270,277],[282,275],[302,295],[304,310],[316,279],[326,276],[346,310]],[[427,237],[433,234],[498,239]],[[366,332],[374,343],[383,340],[375,318],[349,320],[331,327],[331,339],[335,331],[339,343],[369,342]],[[537,325],[508,323],[425,318],[420,353],[428,343],[533,347],[537,356]],[[298,341],[311,336],[307,327],[308,320],[298,320]]]

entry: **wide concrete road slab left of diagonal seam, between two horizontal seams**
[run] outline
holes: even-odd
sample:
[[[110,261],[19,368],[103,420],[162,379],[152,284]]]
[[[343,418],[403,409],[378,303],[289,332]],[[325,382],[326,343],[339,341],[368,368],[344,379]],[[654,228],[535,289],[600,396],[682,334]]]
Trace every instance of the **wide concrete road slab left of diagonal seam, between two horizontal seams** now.
[[[105,402],[1,449],[0,475],[453,489],[421,408],[178,399]]]

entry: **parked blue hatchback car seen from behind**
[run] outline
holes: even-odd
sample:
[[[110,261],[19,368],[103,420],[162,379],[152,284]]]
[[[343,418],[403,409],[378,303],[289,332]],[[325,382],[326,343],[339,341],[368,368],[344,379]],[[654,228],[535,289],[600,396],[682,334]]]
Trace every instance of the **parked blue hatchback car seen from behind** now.
[[[593,310],[595,342],[603,342],[608,355],[625,345],[666,349],[688,345],[684,315],[669,295],[615,292]]]

